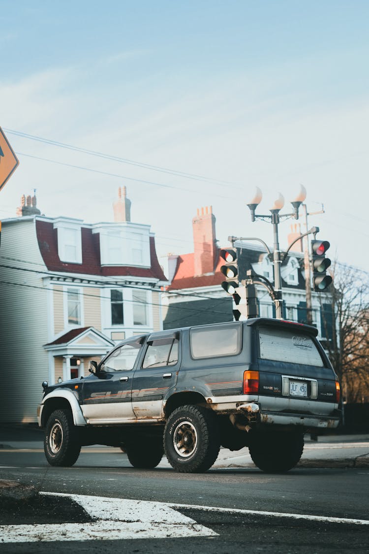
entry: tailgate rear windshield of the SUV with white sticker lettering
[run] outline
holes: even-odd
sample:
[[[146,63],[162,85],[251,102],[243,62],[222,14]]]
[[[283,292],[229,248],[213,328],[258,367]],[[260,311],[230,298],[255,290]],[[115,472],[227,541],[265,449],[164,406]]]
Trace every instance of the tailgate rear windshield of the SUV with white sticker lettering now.
[[[273,329],[259,327],[260,357],[277,362],[299,363],[307,366],[323,367],[318,348],[309,335],[298,329]]]

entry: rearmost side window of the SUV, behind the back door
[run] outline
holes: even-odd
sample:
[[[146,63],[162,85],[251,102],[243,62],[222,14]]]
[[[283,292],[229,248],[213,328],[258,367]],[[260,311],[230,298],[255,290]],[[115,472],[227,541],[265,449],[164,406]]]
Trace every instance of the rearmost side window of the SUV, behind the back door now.
[[[191,356],[194,360],[235,356],[241,352],[241,324],[225,324],[216,327],[190,329]]]

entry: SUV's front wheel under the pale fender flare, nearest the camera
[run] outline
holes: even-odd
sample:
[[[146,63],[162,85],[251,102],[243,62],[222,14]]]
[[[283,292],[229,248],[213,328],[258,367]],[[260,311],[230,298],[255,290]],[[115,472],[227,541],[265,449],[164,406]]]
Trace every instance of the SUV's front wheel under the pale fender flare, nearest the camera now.
[[[70,467],[81,452],[81,442],[69,409],[55,410],[45,427],[44,450],[50,465]]]

